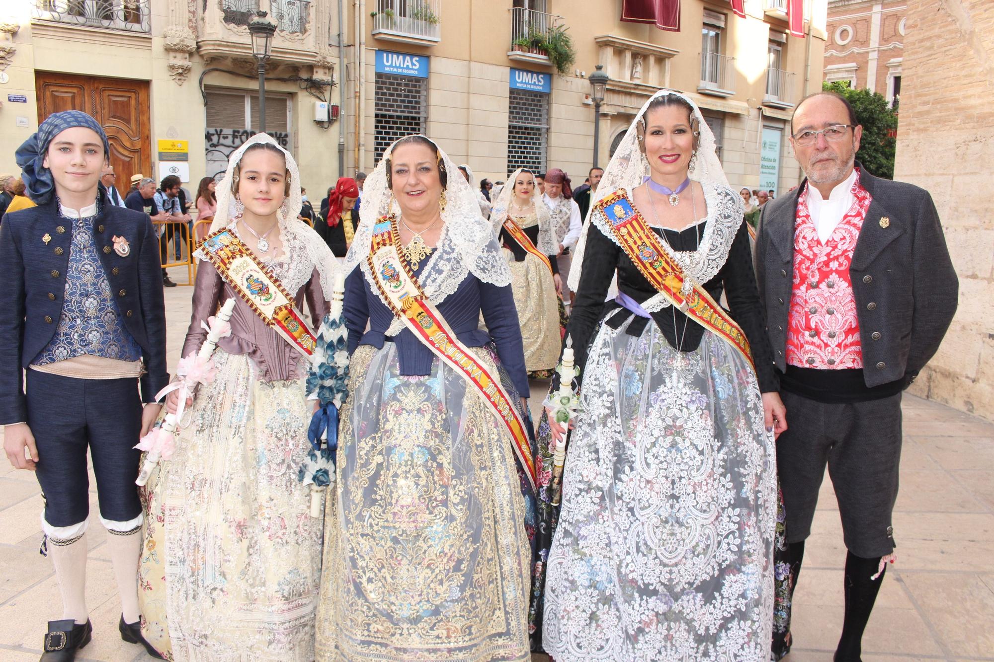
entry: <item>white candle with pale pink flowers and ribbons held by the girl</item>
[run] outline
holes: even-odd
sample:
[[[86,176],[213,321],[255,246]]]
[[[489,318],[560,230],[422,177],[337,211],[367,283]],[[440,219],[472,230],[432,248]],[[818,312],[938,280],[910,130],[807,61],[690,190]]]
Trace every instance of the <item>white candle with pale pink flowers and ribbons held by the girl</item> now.
[[[180,378],[165,389],[155,395],[155,400],[161,400],[172,391],[179,391],[179,404],[176,406],[176,414],[166,414],[162,423],[149,430],[148,434],[141,437],[135,448],[145,451],[145,461],[141,466],[135,484],[143,486],[152,475],[152,470],[159,463],[159,458],[169,459],[176,450],[176,428],[182,426],[183,412],[186,409],[186,399],[199,385],[208,385],[214,381],[218,373],[214,366],[214,350],[218,346],[218,341],[232,335],[232,325],[228,320],[235,309],[235,299],[225,301],[216,316],[207,318],[207,323],[200,325],[207,331],[207,340],[201,345],[200,351],[196,354],[190,352],[185,358],[180,359],[176,367],[176,375]]]

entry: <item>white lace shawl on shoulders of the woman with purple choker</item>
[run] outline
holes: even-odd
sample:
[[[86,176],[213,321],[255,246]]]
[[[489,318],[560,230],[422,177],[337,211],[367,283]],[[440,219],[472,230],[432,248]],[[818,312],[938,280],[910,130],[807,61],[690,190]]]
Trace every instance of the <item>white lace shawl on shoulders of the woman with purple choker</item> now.
[[[725,265],[743,219],[742,198],[735,191],[720,185],[702,184],[702,188],[705,202],[708,204],[708,217],[704,227],[704,237],[701,238],[697,250],[674,250],[665,240],[660,242],[667,254],[690,276],[687,282],[693,280],[698,284],[704,284],[714,278]],[[621,191],[628,198],[632,209],[637,210],[629,192],[626,189]],[[642,216],[645,217],[644,214]],[[590,211],[590,223],[611,242],[621,246],[611,232],[610,221],[601,210]],[[657,312],[669,306],[670,302],[662,293],[658,293],[641,305],[648,312]]]

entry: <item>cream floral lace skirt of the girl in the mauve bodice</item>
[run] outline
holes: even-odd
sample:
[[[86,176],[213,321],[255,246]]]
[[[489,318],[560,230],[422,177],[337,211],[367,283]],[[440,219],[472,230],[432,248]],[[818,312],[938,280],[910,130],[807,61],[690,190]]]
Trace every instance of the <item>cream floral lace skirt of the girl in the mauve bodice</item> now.
[[[248,356],[214,356],[146,498],[146,631],[180,661],[313,660],[323,520],[297,480],[303,380],[260,382]]]

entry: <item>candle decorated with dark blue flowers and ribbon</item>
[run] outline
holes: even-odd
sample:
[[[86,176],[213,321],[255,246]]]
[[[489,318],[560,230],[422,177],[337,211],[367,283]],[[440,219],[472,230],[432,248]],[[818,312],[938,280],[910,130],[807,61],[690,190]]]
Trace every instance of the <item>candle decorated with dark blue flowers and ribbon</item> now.
[[[307,428],[311,449],[297,471],[297,480],[311,486],[311,517],[321,516],[321,492],[335,482],[335,451],[338,450],[338,413],[349,396],[348,331],[342,316],[345,277],[335,278],[331,312],[324,316],[317,334],[307,393],[318,401],[318,410]]]

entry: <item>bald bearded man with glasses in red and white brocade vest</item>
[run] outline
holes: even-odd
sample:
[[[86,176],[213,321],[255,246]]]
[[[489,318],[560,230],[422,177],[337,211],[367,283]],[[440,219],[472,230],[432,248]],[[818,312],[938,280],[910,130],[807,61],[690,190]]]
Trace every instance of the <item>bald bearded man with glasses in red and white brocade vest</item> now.
[[[928,193],[855,161],[863,127],[845,98],[801,100],[791,132],[807,179],[762,207],[756,238],[789,425],[776,460],[795,578],[828,465],[848,549],[835,660],[852,662],[894,562],[901,394],[938,349],[958,283]]]

